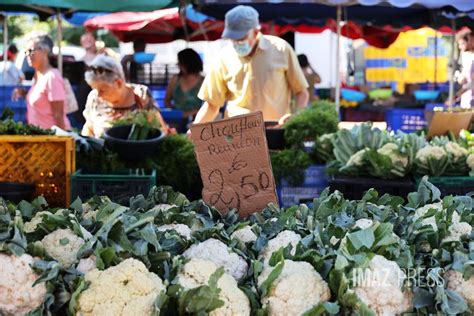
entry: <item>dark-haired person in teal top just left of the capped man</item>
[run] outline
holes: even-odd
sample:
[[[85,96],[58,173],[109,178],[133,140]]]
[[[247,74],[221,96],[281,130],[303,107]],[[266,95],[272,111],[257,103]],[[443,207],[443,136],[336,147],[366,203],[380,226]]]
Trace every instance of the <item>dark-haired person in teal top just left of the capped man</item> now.
[[[204,77],[199,54],[187,48],[178,53],[179,74],[170,80],[165,96],[165,106],[184,112],[184,117],[196,115],[202,105],[198,98]]]

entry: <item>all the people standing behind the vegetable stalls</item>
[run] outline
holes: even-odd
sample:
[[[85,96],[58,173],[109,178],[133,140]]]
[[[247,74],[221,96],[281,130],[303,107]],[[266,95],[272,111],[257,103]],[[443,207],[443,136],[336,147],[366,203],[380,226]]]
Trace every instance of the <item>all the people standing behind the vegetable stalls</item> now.
[[[203,62],[192,49],[178,53],[179,73],[169,81],[164,106],[183,112],[186,122],[205,123],[216,119],[225,106],[225,117],[261,111],[266,121],[283,124],[292,113],[317,97],[315,85],[321,78],[305,55],[296,55],[285,40],[264,35],[258,12],[237,6],[227,12],[222,38],[229,41],[203,76]],[[119,60],[117,54],[98,45],[92,33],[81,37],[85,50],[85,72],[79,84],[78,111],[69,118],[81,123],[82,134],[100,137],[113,121],[130,111],[154,110],[164,132],[172,132],[163,120],[150,90],[131,84],[140,70],[134,55]],[[461,50],[457,94],[462,107],[471,107],[474,91],[474,34],[458,38]],[[143,41],[134,42],[135,53],[144,52]],[[13,98],[24,97],[28,123],[43,128],[54,125],[71,128],[70,89],[67,80],[52,63],[53,41],[48,35],[28,41],[25,54],[34,69],[33,84],[27,91],[15,89]],[[18,85],[24,75],[15,67],[18,49],[11,45],[8,60],[0,63],[0,84]]]

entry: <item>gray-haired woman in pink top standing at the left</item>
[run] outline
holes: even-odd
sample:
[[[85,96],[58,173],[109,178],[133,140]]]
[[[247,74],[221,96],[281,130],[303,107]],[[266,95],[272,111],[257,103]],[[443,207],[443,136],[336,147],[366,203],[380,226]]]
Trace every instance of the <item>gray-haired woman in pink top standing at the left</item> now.
[[[56,125],[70,129],[71,124],[66,116],[64,80],[49,61],[52,50],[53,41],[48,35],[34,37],[28,42],[25,54],[28,64],[35,69],[33,85],[28,93],[18,90],[15,94],[26,95],[29,124],[42,128]]]

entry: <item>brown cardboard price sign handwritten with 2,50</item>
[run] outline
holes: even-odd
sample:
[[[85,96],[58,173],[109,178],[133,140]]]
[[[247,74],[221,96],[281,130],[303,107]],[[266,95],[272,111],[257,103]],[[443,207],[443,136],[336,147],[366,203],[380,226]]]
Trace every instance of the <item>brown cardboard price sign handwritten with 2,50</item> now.
[[[191,126],[204,201],[241,217],[278,203],[262,112]]]

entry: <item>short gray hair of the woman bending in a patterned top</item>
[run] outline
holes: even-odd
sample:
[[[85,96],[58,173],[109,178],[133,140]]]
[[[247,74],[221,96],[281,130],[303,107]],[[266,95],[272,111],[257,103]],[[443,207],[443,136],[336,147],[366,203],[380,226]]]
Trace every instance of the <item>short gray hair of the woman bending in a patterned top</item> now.
[[[94,71],[86,71],[84,76],[87,84],[90,86],[98,82],[113,83],[117,79],[125,81],[122,65],[113,57],[104,54],[98,55],[92,60],[89,66],[93,68],[102,67],[109,70],[102,74],[95,73]]]

